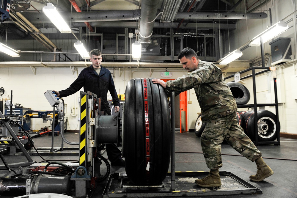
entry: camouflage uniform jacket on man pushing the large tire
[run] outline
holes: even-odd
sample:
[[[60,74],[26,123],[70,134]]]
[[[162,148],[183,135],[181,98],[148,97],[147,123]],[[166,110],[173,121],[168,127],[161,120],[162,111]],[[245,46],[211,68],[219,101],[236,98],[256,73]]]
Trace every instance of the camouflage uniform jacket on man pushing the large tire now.
[[[224,80],[223,73],[213,63],[199,60],[195,71],[166,82],[166,89],[175,91],[175,95],[192,88],[201,107],[203,122],[237,111],[235,98]]]

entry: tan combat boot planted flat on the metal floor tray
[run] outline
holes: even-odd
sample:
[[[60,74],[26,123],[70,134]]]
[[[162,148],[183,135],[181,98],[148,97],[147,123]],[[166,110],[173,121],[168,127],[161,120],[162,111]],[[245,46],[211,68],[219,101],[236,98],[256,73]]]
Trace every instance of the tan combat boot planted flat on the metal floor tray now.
[[[221,186],[221,179],[219,175],[219,169],[216,170],[210,170],[209,175],[199,179],[195,180],[195,183],[198,186],[202,187],[218,187]]]

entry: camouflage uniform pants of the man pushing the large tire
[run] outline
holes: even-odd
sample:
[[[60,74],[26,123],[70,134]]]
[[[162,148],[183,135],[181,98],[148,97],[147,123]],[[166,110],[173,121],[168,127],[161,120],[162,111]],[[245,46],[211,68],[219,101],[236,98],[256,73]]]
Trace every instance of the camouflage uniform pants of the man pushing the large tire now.
[[[255,161],[261,157],[261,152],[238,125],[236,113],[226,117],[209,120],[201,135],[201,147],[205,162],[210,169],[219,169],[223,166],[221,143],[226,139],[238,153]]]

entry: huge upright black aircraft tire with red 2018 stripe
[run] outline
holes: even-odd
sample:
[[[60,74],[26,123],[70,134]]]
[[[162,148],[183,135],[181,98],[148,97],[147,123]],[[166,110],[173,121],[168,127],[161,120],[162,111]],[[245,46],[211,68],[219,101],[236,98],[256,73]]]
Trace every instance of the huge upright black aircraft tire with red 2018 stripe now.
[[[136,185],[160,184],[170,162],[170,111],[163,87],[131,79],[125,92],[123,145],[127,177]]]

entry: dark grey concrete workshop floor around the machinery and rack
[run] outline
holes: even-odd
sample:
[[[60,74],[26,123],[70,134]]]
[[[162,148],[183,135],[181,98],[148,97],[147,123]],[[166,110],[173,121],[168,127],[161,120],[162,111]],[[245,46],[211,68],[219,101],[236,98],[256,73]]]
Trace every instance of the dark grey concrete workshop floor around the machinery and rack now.
[[[79,136],[77,133],[65,133],[65,138],[70,142],[78,142]],[[52,136],[44,135],[38,138],[34,138],[35,147],[51,147]],[[61,147],[61,135],[54,136],[54,147]],[[64,143],[64,147],[78,147],[78,145],[69,145]],[[241,179],[252,184],[256,188],[262,190],[262,194],[240,194],[240,195],[228,195],[228,196],[212,196],[212,197],[259,197],[259,198],[293,198],[297,197],[297,140],[281,138],[279,146],[276,145],[260,145],[257,146],[262,152],[264,161],[274,170],[274,175],[266,178],[262,182],[253,182],[249,180],[250,175],[254,175],[257,172],[256,164],[242,157],[228,144],[222,144],[222,159],[223,167],[220,171],[232,172]],[[69,151],[63,151],[69,152]],[[78,160],[78,155],[45,155],[43,158],[47,160]],[[107,158],[106,153],[103,154]],[[36,162],[43,161],[38,155],[31,155],[32,159]],[[17,153],[14,156],[4,155],[4,158],[8,163],[26,162],[26,158]],[[0,164],[3,164],[0,161]],[[106,166],[101,165],[101,174],[105,174]],[[200,138],[198,138],[194,132],[179,133],[175,132],[175,171],[208,171],[206,167],[204,157],[200,146]],[[169,165],[169,171],[171,166]],[[125,172],[124,167],[111,166],[111,173]],[[1,170],[0,176],[8,175],[8,171]],[[106,186],[107,180],[99,183],[96,190],[92,194],[92,197],[103,197],[103,189]],[[193,187],[199,189],[194,184]],[[211,189],[212,191],[215,189]],[[206,194],[207,195],[207,194]],[[145,194],[143,195],[145,197]],[[0,196],[3,198],[11,198],[16,196]]]

